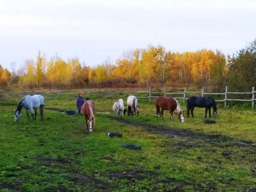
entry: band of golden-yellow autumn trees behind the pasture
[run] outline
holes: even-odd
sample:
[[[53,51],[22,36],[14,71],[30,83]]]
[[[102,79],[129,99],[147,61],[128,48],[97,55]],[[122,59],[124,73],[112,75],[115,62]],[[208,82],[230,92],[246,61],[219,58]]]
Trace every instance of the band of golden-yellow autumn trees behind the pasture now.
[[[0,66],[0,86],[33,88],[124,87],[146,84],[171,86],[228,85],[236,90],[251,89],[256,82],[256,40],[233,56],[202,49],[195,52],[166,51],[163,46],[135,49],[121,59],[96,67],[81,66],[77,57],[67,61],[58,56],[46,60],[40,51],[36,61],[9,72]]]

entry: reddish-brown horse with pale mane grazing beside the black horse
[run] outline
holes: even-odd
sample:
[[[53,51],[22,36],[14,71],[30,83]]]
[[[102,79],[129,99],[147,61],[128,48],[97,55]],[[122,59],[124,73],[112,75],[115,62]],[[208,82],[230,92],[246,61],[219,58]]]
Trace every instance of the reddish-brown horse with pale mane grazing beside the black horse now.
[[[159,96],[156,99],[156,108],[157,108],[157,117],[158,117],[158,114],[160,114],[160,117],[161,116],[163,117],[164,110],[170,111],[169,121],[172,119],[173,111],[176,109],[178,112],[179,120],[181,120],[181,123],[184,123],[183,111],[181,110],[181,106],[176,99],[172,97]],[[161,108],[161,113],[160,113],[160,108]]]

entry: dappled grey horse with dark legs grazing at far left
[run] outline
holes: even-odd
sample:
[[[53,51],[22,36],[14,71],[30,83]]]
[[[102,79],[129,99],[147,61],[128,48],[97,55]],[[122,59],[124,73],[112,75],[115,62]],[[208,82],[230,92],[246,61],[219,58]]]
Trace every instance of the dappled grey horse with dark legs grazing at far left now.
[[[44,105],[45,105],[45,99],[42,95],[33,95],[33,96],[26,95],[20,100],[16,111],[14,111],[14,120],[17,121],[21,118],[21,109],[24,107],[27,112],[27,119],[28,119],[28,110],[29,110],[33,120],[36,120],[37,108],[40,108],[40,115],[41,115],[41,121],[42,121]],[[35,109],[35,118],[33,115],[33,109]]]

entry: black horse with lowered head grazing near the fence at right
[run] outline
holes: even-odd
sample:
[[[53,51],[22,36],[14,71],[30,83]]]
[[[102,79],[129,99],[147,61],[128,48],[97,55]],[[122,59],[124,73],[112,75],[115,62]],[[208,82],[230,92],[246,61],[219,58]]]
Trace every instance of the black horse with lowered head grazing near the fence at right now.
[[[190,110],[192,117],[194,117],[193,111],[195,107],[205,108],[205,118],[207,118],[207,110],[209,110],[209,117],[211,118],[211,107],[213,108],[213,116],[216,118],[217,105],[214,99],[209,96],[192,96],[187,99],[187,117],[190,116]]]

